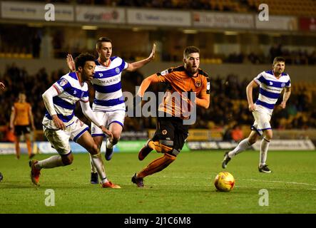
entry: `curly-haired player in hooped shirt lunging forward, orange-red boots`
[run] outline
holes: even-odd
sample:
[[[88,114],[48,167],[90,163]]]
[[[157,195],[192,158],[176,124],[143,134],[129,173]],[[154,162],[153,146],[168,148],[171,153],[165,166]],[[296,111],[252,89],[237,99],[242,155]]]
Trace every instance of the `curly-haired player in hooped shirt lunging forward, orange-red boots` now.
[[[90,133],[88,133],[88,126],[74,115],[76,102],[80,101],[83,114],[97,128],[100,128],[104,134],[112,137],[112,133],[96,118],[88,102],[88,85],[86,81],[91,81],[94,75],[96,67],[94,56],[82,53],[76,58],[75,65],[75,72],[62,76],[42,95],[46,107],[46,114],[42,122],[44,135],[59,155],[40,161],[31,160],[29,163],[31,180],[35,185],[39,185],[41,169],[71,165],[73,162],[73,155],[69,145],[69,139],[71,139],[86,148],[91,154],[93,165],[101,177],[101,186],[120,188],[120,186],[114,185],[106,178],[100,150]]]

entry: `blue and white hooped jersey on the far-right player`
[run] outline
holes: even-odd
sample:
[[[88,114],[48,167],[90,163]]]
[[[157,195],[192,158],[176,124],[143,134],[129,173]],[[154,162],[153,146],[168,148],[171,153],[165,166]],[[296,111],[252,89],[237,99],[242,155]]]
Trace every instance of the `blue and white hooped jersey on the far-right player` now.
[[[254,81],[260,86],[259,97],[255,104],[263,106],[269,113],[272,113],[283,88],[291,87],[290,76],[287,73],[282,73],[277,79],[273,71],[263,71],[254,78]]]

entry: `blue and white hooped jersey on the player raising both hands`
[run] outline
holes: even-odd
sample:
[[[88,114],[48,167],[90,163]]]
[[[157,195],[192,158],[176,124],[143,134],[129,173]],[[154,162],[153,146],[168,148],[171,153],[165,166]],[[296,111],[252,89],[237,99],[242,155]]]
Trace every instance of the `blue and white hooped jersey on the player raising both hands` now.
[[[108,67],[102,66],[98,60],[95,61],[96,69],[92,84],[96,94],[92,105],[93,111],[125,110],[121,74],[128,68],[128,63],[117,56],[111,57],[110,60]]]

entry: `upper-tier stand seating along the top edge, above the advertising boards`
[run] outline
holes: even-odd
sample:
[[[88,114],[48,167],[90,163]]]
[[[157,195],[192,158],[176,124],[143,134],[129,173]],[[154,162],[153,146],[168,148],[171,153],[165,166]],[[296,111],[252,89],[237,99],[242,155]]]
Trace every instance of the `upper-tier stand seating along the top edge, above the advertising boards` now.
[[[9,1],[9,0],[5,0]],[[42,0],[34,0],[42,1]],[[96,6],[129,6],[151,9],[203,9],[211,11],[232,11],[237,13],[257,12],[262,1],[258,0],[46,0],[47,3],[86,4]],[[301,0],[300,9],[297,0],[280,4],[280,0],[270,0],[269,10],[276,15],[315,16],[315,0]]]

